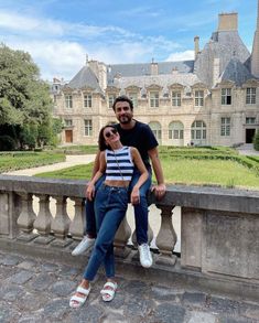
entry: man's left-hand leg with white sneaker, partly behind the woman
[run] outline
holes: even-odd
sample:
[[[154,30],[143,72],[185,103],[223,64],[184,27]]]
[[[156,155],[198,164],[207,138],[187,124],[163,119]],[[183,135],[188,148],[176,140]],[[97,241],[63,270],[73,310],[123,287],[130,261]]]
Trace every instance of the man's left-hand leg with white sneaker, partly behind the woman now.
[[[101,176],[95,185],[96,193],[100,185],[102,184],[105,176]],[[95,193],[95,194],[96,194]],[[77,247],[72,251],[73,256],[78,256],[89,249],[95,244],[96,238],[96,219],[95,219],[95,201],[86,200],[85,203],[85,215],[86,215],[86,228],[85,235],[82,241],[77,245]]]

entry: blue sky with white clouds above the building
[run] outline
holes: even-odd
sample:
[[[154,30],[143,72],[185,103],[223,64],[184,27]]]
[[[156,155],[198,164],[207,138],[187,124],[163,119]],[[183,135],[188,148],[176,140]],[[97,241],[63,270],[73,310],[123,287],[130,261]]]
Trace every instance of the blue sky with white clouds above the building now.
[[[257,0],[0,0],[0,43],[29,52],[41,77],[71,80],[88,60],[106,64],[194,58],[217,30],[218,14],[238,12],[251,51]]]

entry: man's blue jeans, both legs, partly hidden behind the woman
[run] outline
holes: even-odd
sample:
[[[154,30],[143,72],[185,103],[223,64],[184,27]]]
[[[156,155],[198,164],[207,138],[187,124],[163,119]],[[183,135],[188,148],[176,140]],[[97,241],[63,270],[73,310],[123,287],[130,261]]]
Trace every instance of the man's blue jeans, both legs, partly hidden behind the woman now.
[[[132,180],[130,182],[129,194],[131,193],[132,187],[138,182],[140,176],[140,172],[136,169]],[[151,170],[149,170],[149,179],[144,182],[144,184],[140,187],[140,204],[134,205],[134,222],[136,222],[136,236],[138,245],[148,243],[148,201],[147,195],[148,191],[151,186]],[[105,176],[100,177],[96,183],[96,192],[98,192],[98,187],[102,184]],[[96,237],[96,217],[94,211],[94,202],[86,200],[86,234]]]

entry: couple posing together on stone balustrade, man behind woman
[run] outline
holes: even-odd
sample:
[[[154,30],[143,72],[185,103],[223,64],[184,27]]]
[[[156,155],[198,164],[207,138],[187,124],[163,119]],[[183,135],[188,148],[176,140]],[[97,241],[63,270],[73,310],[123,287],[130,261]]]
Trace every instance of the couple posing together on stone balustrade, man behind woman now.
[[[148,125],[133,119],[133,104],[126,97],[117,97],[114,111],[119,123],[107,125],[99,132],[93,179],[86,187],[86,235],[72,255],[83,254],[94,246],[83,280],[71,298],[72,308],[82,306],[101,263],[107,282],[100,291],[104,301],[115,297],[114,238],[123,219],[130,195],[134,207],[136,234],[140,262],[152,266],[148,244],[148,202],[151,187],[151,159],[158,184],[152,187],[158,200],[165,194],[163,172],[158,153],[158,141]]]

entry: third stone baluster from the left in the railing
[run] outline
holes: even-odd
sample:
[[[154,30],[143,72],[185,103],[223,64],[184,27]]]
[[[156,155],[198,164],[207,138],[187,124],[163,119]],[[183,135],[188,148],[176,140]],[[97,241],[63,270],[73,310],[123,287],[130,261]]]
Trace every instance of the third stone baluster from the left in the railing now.
[[[71,219],[66,212],[66,196],[54,196],[56,215],[52,218],[51,230],[55,237],[64,239],[67,236]]]

